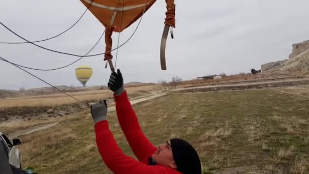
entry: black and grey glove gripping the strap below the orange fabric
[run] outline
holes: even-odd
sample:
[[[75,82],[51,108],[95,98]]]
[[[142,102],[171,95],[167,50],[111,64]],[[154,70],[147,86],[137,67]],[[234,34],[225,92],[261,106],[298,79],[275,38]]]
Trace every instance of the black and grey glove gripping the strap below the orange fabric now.
[[[115,95],[120,95],[125,91],[125,88],[123,87],[123,78],[120,70],[117,70],[116,72],[113,72],[110,75],[108,88],[114,92]]]

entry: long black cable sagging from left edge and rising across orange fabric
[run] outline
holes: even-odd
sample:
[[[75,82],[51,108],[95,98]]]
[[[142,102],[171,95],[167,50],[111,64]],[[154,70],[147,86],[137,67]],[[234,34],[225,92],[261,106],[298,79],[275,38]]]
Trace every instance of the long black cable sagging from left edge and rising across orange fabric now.
[[[140,19],[139,22],[138,22],[137,27],[135,28],[135,31],[133,32],[133,34],[130,36],[130,38],[129,38],[126,42],[122,43],[120,46],[118,46],[117,48],[114,48],[114,49],[112,49],[112,50],[110,50],[110,51],[102,52],[102,53],[98,53],[98,54],[86,55],[86,56],[84,56],[84,57],[91,57],[91,56],[102,55],[102,54],[105,54],[105,53],[114,51],[114,50],[116,50],[116,49],[122,47],[123,45],[125,45],[127,42],[129,42],[129,41],[131,40],[131,38],[134,36],[135,32],[137,31],[137,28],[139,27],[139,24],[140,24],[141,21],[142,21],[143,15],[144,15],[144,13],[145,13],[145,9],[146,9],[146,8],[144,8],[143,14],[142,14],[142,16],[141,16],[141,19]],[[48,50],[48,51],[52,51],[52,52],[56,52],[56,53],[61,53],[61,54],[77,56],[77,57],[82,57],[82,56],[83,56],[83,55],[76,55],[76,54],[71,54],[71,53],[66,53],[66,52],[60,52],[60,51],[56,51],[56,50],[52,50],[52,49],[49,49],[49,48],[42,47],[42,46],[40,46],[40,45],[37,45],[37,44],[35,44],[35,43],[33,43],[33,42],[30,42],[30,41],[26,40],[25,38],[19,36],[18,34],[16,34],[15,32],[13,32],[9,27],[7,27],[5,24],[3,24],[1,21],[0,21],[0,24],[1,24],[2,26],[4,26],[5,28],[7,28],[7,30],[9,30],[9,31],[10,31],[11,33],[13,33],[14,35],[16,35],[16,36],[18,36],[19,38],[21,38],[21,39],[27,41],[27,43],[33,44],[33,45],[35,45],[35,46],[37,46],[37,47],[40,47],[40,48],[42,48],[42,49],[45,49],[45,50]]]

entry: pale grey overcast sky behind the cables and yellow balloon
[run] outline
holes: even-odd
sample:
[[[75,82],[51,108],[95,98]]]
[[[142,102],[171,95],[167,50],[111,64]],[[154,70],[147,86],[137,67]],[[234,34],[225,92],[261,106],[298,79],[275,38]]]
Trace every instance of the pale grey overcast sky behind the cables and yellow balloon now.
[[[194,2],[194,3],[193,3]],[[133,38],[118,50],[117,67],[125,82],[157,82],[173,76],[187,80],[208,74],[250,72],[251,68],[287,59],[292,44],[309,39],[309,1],[223,0],[175,1],[174,39],[167,41],[167,70],[160,67],[160,42],[166,4],[158,0],[143,16]],[[2,1],[0,21],[24,38],[35,41],[59,34],[83,13],[77,0]],[[120,34],[120,43],[133,33],[137,22]],[[104,26],[90,12],[72,30],[39,45],[85,54],[99,39]],[[118,34],[113,34],[116,47]],[[0,26],[0,42],[23,40]],[[104,40],[91,52],[104,52]],[[115,52],[113,52],[115,54]],[[31,44],[0,44],[0,56],[24,66],[50,69],[78,57],[49,52]],[[115,57],[115,56],[114,56]],[[53,85],[81,85],[75,68],[89,65],[94,74],[87,85],[106,84],[110,75],[103,56],[86,57],[72,66],[50,72],[30,72]],[[16,67],[0,61],[0,89],[17,90],[48,86]]]

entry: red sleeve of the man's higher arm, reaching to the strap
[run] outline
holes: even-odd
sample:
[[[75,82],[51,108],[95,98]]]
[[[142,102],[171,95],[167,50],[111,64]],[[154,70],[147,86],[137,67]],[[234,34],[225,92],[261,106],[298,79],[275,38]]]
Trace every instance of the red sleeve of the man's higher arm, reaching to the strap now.
[[[127,92],[125,91],[119,96],[114,95],[114,99],[120,127],[135,156],[140,161],[144,161],[145,158],[149,158],[154,154],[157,148],[153,146],[143,133]]]

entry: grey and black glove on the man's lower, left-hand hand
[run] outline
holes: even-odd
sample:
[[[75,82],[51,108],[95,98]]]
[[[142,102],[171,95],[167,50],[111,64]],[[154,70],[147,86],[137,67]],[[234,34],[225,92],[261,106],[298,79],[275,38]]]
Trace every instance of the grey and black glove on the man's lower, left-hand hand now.
[[[95,123],[105,121],[107,115],[107,104],[106,100],[101,100],[96,104],[92,104],[90,107],[92,119]]]

